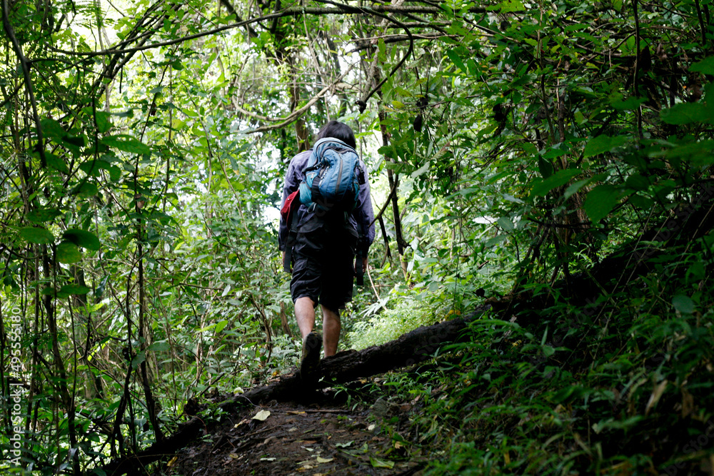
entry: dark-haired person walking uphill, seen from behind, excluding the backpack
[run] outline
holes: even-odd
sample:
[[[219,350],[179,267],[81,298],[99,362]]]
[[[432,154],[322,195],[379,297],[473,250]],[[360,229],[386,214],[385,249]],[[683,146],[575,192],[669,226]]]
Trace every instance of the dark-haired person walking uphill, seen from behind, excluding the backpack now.
[[[374,213],[367,169],[356,151],[343,147],[356,149],[354,133],[347,124],[330,121],[318,133],[314,150],[323,150],[319,147],[321,142],[335,143],[328,141],[328,138],[342,141],[343,144],[336,143],[338,151],[353,153],[351,159],[356,166],[358,182],[353,186],[352,202],[345,206],[341,203],[320,203],[315,197],[316,183],[311,186],[303,183],[306,172],[309,175],[306,169],[313,149],[293,157],[283,186],[278,240],[283,251],[283,266],[292,273],[290,291],[303,338],[300,370],[304,379],[314,377],[312,374],[319,365],[323,340],[325,357],[337,352],[341,330],[340,309],[352,300],[355,275],[358,275],[358,284],[361,284],[361,273],[367,268],[367,252],[374,239]],[[312,191],[312,194],[306,191]],[[305,195],[312,195],[317,203],[309,202],[310,197]],[[313,331],[318,304],[322,308],[323,335]]]

